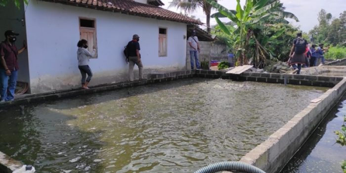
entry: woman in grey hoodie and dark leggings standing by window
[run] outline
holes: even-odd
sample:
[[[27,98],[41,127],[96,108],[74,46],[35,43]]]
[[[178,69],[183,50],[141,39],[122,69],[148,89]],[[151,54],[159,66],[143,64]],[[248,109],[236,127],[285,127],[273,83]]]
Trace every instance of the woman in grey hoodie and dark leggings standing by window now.
[[[77,43],[77,59],[78,59],[78,68],[82,74],[82,87],[83,89],[89,89],[87,85],[90,82],[92,77],[91,69],[89,67],[89,58],[96,57],[96,48],[92,47],[92,52],[90,53],[87,50],[87,41],[82,39]],[[86,79],[87,77],[87,79]]]

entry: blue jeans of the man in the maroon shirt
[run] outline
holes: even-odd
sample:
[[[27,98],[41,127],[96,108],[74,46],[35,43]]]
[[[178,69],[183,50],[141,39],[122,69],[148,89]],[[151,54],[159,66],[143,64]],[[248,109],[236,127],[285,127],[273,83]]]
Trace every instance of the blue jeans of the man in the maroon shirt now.
[[[11,71],[7,76],[4,69],[0,69],[0,95],[1,100],[9,101],[14,99],[14,91],[17,85],[18,71]]]

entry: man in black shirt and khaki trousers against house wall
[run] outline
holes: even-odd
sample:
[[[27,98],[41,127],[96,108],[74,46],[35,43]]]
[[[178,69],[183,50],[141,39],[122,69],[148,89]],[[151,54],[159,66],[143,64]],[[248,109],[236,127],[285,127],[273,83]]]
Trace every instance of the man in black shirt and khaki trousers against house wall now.
[[[137,34],[133,35],[132,40],[128,43],[128,51],[129,51],[129,78],[130,81],[134,80],[133,77],[133,67],[134,64],[138,66],[139,70],[139,80],[143,79],[143,65],[142,61],[140,60],[140,54],[139,54],[139,36]]]

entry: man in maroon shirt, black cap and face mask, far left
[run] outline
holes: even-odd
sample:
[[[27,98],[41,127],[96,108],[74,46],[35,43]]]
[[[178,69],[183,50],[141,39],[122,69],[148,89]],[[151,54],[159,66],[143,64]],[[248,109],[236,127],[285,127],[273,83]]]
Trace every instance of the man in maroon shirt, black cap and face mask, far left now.
[[[23,43],[21,49],[17,49],[14,42],[17,40],[15,36],[19,34],[12,30],[5,32],[6,40],[0,43],[0,102],[12,101],[14,99],[14,91],[17,84],[18,72],[18,54],[26,49],[26,43]]]

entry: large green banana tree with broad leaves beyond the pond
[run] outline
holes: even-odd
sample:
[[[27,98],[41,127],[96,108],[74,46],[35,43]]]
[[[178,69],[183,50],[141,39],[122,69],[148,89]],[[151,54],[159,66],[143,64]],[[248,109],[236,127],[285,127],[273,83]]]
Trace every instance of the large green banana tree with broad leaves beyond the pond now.
[[[294,14],[280,8],[280,0],[246,0],[244,7],[241,6],[240,0],[236,0],[235,10],[229,10],[213,0],[206,1],[218,10],[212,17],[215,17],[220,29],[227,35],[232,33],[239,36],[235,41],[239,64],[247,64],[250,58],[253,58],[256,65],[264,63],[266,57],[272,57],[265,45],[284,33],[283,29],[269,37],[256,31],[262,31],[270,24],[288,23],[285,18],[298,21]],[[221,17],[228,17],[234,22],[235,31],[231,32],[219,20]]]

